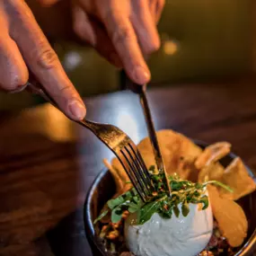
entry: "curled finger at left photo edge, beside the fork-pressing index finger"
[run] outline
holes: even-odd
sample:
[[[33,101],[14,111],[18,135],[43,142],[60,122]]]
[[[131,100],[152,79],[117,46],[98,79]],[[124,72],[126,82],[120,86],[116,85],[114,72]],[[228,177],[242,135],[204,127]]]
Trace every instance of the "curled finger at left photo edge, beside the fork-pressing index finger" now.
[[[0,15],[0,87],[9,92],[19,91],[28,81],[28,69],[3,20]]]

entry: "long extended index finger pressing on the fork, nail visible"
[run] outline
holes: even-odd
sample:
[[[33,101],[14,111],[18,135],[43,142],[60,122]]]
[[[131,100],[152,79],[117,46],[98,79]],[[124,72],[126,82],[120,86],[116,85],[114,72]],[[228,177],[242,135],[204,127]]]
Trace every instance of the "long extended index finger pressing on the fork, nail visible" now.
[[[67,78],[56,53],[40,30],[31,10],[21,1],[8,3],[10,3],[9,13],[13,17],[10,31],[27,66],[69,118],[83,119],[84,102]]]

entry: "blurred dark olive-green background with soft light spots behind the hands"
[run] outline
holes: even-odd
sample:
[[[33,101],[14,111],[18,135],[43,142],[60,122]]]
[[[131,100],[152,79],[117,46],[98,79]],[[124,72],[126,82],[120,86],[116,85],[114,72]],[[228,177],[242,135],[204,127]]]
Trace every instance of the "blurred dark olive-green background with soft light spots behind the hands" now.
[[[67,1],[52,7],[26,2],[83,97],[124,89],[125,75],[75,37]],[[193,86],[253,75],[255,14],[253,0],[166,0],[158,25],[162,47],[148,60],[152,72],[149,86]],[[41,102],[27,93],[0,93],[0,110]]]

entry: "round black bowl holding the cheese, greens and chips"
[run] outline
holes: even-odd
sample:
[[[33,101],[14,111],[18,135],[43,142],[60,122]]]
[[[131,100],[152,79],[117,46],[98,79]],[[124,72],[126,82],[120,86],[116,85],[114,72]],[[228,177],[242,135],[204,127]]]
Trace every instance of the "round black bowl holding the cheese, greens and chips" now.
[[[196,142],[196,144],[202,148],[207,146],[201,142]],[[228,154],[224,159],[222,159],[221,163],[224,166],[227,166],[235,157],[235,154]],[[256,181],[255,174],[248,166],[246,167],[253,180]],[[111,199],[111,197],[113,197],[115,192],[115,181],[113,180],[110,172],[108,170],[104,170],[93,182],[84,204],[85,234],[94,256],[110,256],[110,253],[105,252],[101,240],[96,236],[93,220],[99,216],[102,207],[109,199]],[[253,256],[256,255],[256,192],[243,197],[243,199],[240,199],[238,203],[243,207],[247,216],[249,230],[243,246],[238,250],[235,256]]]

